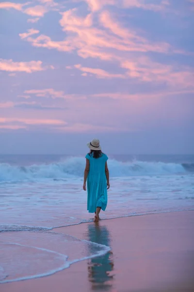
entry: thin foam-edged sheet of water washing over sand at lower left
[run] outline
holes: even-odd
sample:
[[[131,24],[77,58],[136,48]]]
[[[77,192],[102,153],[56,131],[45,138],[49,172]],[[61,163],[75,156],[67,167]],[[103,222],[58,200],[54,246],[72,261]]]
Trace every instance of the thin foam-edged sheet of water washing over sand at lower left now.
[[[6,237],[6,234],[4,234],[4,236]],[[21,237],[20,241],[22,241],[25,240],[25,236],[26,238],[28,237],[28,242],[30,241],[32,243],[35,243],[35,241],[40,238],[40,243],[52,248],[53,250],[48,248],[42,248],[39,246],[29,246],[16,242],[1,243],[1,249],[3,250],[4,246],[5,250],[8,249],[8,251],[3,253],[1,259],[1,264],[5,266],[5,269],[4,267],[1,267],[0,269],[0,284],[39,278],[55,274],[68,268],[71,264],[75,262],[94,258],[97,256],[103,256],[108,251],[110,251],[110,247],[104,244],[99,244],[88,240],[81,240],[76,237],[71,237],[68,235],[54,232],[41,234],[30,233],[30,235],[27,232],[25,233],[25,235],[19,234],[18,237],[11,237],[16,240],[20,240],[19,237]],[[77,244],[79,244],[79,248],[81,250],[80,253],[77,252]],[[92,253],[90,253],[89,250],[87,251],[86,247],[89,248]],[[20,250],[15,251],[15,248],[20,248]],[[59,250],[60,248],[61,250],[64,250],[66,248],[65,251],[69,250],[71,252],[71,255],[67,256],[64,253],[56,251],[56,248],[58,248]],[[79,254],[83,256],[75,258],[74,254]],[[67,260],[69,256],[71,257],[71,259]],[[10,258],[12,265],[9,264]],[[38,266],[37,262],[39,262]],[[28,266],[27,270],[25,269],[26,266]]]

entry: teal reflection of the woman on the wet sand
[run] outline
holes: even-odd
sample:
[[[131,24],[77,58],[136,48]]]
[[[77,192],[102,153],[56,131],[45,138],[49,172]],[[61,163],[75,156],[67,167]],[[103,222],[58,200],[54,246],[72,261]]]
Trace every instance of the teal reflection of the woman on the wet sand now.
[[[88,224],[87,236],[89,241],[110,246],[110,234],[106,226],[99,223]],[[113,253],[98,256],[88,262],[88,278],[92,290],[110,291],[113,285]]]

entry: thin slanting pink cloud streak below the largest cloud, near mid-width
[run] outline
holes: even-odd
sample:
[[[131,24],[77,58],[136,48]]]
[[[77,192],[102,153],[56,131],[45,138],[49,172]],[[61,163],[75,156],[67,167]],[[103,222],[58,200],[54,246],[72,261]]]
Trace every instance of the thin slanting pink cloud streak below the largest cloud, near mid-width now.
[[[92,73],[94,74],[97,78],[125,78],[123,74],[113,74],[109,73],[105,70],[98,69],[98,68],[88,68],[88,67],[81,67],[80,64],[74,65],[75,68],[78,70],[81,70],[84,73]]]

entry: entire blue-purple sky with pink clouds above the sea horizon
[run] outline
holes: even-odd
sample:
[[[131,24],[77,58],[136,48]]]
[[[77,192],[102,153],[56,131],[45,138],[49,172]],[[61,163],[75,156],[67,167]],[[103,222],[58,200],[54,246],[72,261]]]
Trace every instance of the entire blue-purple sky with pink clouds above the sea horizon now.
[[[194,153],[194,0],[0,2],[0,154]]]

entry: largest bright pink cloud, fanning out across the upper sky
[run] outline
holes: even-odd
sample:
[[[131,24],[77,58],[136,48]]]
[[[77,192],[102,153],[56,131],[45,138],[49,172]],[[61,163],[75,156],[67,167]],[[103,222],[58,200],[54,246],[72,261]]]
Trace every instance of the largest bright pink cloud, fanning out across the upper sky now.
[[[99,24],[106,29],[93,27],[92,14],[85,18],[77,16],[77,9],[62,13],[60,24],[67,37],[62,41],[52,41],[50,37],[27,37],[26,40],[34,47],[56,49],[63,52],[77,50],[83,58],[93,57],[102,60],[121,58],[123,52],[160,52],[168,53],[171,47],[167,43],[151,43],[144,37],[139,37],[131,29],[124,28],[113,19],[108,11],[99,15]]]

